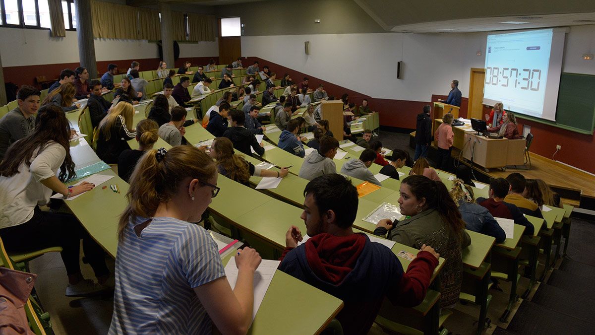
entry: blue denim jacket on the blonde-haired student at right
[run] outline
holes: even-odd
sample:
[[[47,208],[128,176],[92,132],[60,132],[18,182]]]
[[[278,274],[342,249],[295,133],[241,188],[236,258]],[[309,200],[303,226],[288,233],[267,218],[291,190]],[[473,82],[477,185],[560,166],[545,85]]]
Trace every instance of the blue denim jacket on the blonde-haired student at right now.
[[[486,207],[460,200],[459,212],[461,212],[467,229],[495,237],[496,243],[502,243],[506,240],[504,230],[500,227],[496,219],[491,216]]]

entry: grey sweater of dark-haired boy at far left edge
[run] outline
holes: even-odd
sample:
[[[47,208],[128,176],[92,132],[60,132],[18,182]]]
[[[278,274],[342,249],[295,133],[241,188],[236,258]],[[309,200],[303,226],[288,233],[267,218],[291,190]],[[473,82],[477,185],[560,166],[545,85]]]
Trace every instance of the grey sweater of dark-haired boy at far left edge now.
[[[25,119],[18,107],[0,119],[0,161],[12,143],[31,135],[33,126],[35,126],[35,115]]]

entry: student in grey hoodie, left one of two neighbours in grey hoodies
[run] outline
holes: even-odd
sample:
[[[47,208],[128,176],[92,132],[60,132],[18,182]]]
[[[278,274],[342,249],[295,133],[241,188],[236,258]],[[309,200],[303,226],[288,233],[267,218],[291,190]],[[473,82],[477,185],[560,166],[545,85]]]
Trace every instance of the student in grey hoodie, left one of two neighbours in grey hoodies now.
[[[320,138],[320,149],[312,151],[303,161],[299,169],[299,176],[312,180],[317,176],[337,173],[337,166],[333,162],[339,149],[339,141],[334,137],[323,136]]]

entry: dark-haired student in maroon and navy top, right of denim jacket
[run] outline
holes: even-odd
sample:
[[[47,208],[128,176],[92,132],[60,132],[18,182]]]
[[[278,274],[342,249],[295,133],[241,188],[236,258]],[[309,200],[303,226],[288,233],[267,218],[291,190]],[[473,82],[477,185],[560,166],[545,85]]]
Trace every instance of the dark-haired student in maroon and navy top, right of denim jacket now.
[[[516,205],[504,201],[510,184],[504,178],[493,178],[490,182],[490,198],[477,198],[477,203],[487,208],[494,218],[505,218],[515,221],[515,224],[525,226],[524,235],[533,235],[533,224],[522,215]]]

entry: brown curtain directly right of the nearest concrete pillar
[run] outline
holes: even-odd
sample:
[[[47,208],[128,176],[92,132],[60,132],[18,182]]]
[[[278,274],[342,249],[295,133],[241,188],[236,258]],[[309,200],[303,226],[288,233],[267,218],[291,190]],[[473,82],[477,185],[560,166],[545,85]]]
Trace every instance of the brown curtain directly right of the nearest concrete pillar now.
[[[91,1],[93,37],[138,39],[136,8]]]

